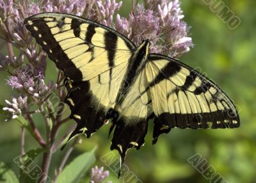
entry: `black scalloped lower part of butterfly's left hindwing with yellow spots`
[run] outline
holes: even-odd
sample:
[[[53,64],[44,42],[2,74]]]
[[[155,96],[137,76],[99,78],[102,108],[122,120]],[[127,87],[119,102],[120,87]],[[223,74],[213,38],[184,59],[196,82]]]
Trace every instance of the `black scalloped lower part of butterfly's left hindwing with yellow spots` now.
[[[92,92],[90,92],[90,82],[83,81],[74,83],[68,79],[65,81],[68,90],[65,103],[71,110],[70,118],[77,122],[77,127],[70,135],[68,141],[76,134],[84,133],[90,138],[93,132],[96,132],[104,123],[106,116],[106,107],[102,106]],[[97,108],[95,107],[97,104]]]

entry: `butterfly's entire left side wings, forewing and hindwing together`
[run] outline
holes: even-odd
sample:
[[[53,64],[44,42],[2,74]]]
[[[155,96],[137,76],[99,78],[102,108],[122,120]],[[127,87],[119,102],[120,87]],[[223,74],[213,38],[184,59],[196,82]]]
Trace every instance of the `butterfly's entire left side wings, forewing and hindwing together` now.
[[[24,21],[67,82],[65,102],[77,122],[75,136],[88,137],[103,124],[127,70],[134,44],[96,22],[63,13],[40,13]]]

